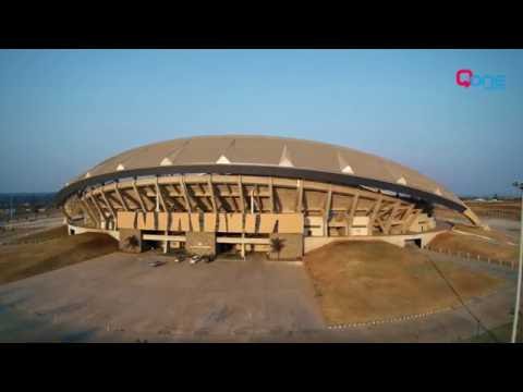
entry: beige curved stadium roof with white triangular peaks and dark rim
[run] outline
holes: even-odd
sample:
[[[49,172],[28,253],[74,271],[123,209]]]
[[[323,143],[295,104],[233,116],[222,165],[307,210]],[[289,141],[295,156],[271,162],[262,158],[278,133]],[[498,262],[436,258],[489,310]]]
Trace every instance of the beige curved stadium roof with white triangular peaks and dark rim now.
[[[134,148],[105,160],[74,179],[60,194],[96,180],[179,172],[301,175],[311,180],[361,184],[414,194],[462,210],[463,203],[441,184],[415,170],[348,147],[275,136],[195,136]],[[69,192],[68,192],[69,191]]]

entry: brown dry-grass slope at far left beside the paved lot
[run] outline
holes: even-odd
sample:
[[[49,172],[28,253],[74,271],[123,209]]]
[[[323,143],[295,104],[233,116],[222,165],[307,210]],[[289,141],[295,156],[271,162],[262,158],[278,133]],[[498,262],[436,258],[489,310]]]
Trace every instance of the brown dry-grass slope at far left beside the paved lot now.
[[[108,235],[63,235],[62,228],[32,234],[36,243],[0,246],[0,284],[48,272],[118,250]],[[28,237],[17,241],[27,241]]]

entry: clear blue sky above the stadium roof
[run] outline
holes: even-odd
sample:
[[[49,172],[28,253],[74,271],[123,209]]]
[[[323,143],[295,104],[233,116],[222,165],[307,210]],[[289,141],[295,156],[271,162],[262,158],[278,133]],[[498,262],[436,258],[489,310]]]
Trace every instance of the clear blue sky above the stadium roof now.
[[[460,69],[506,86],[459,86]],[[0,193],[59,191],[144,144],[262,134],[515,195],[522,106],[523,50],[0,50]]]

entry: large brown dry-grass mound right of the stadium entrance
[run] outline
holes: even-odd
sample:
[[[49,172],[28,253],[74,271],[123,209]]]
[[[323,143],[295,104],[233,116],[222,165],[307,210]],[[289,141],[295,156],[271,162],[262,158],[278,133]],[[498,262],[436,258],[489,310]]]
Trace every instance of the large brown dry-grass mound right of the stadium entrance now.
[[[415,315],[484,295],[503,281],[382,242],[339,242],[304,258],[329,324]],[[449,283],[453,289],[449,286]],[[458,295],[457,295],[457,293]]]

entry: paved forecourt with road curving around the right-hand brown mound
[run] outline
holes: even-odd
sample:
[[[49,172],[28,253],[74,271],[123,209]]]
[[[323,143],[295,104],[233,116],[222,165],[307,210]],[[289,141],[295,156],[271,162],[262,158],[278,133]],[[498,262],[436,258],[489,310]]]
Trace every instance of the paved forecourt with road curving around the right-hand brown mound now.
[[[148,261],[162,256],[117,253],[0,286],[0,341],[453,342],[482,332],[475,318],[486,328],[511,320],[514,272],[429,255],[498,274],[507,285],[469,302],[469,310],[330,330],[299,264],[153,268]]]

